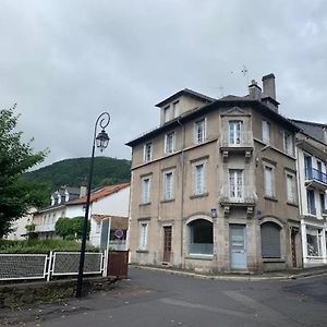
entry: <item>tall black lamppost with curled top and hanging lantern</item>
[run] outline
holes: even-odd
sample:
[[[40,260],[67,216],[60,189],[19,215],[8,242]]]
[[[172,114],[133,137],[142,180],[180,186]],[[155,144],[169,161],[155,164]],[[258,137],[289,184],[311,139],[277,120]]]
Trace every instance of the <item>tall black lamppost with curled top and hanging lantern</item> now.
[[[92,187],[95,146],[97,146],[100,149],[100,152],[102,152],[108,146],[110,138],[109,138],[108,134],[106,133],[105,129],[108,126],[109,122],[110,122],[110,114],[108,112],[102,112],[98,117],[98,119],[95,123],[95,128],[94,128],[93,147],[92,147],[92,155],[90,155],[90,161],[89,161],[89,174],[88,174],[88,183],[87,183],[87,198],[86,198],[81,255],[80,255],[80,268],[78,268],[78,277],[77,277],[77,284],[76,284],[76,298],[82,296],[83,268],[84,268],[85,247],[86,247],[86,238],[87,238],[88,211],[89,211],[89,199],[90,199],[90,187]],[[98,136],[96,136],[98,125],[100,125],[100,128],[102,130],[98,134]]]

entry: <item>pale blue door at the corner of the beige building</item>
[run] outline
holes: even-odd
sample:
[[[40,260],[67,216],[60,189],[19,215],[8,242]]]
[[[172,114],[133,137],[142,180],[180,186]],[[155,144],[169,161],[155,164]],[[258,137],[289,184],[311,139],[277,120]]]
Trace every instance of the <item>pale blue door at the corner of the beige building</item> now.
[[[230,225],[230,262],[231,269],[246,269],[246,227]]]

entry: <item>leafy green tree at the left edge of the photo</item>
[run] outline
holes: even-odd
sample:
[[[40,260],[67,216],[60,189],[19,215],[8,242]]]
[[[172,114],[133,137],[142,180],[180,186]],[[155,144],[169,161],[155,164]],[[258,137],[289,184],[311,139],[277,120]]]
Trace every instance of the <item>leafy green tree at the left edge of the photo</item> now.
[[[40,190],[45,185],[26,181],[23,173],[41,162],[48,150],[34,153],[33,138],[22,141],[23,132],[15,131],[20,117],[14,114],[15,107],[0,110],[0,239],[31,206],[44,203]]]

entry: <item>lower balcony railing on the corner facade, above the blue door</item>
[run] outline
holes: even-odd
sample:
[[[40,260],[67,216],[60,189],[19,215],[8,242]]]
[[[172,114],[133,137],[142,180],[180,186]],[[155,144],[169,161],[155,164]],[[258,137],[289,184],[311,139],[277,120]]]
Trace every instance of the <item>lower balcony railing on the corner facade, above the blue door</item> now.
[[[241,185],[238,190],[231,190],[230,186],[223,185],[220,193],[220,203],[230,204],[255,204],[257,195],[253,186]]]

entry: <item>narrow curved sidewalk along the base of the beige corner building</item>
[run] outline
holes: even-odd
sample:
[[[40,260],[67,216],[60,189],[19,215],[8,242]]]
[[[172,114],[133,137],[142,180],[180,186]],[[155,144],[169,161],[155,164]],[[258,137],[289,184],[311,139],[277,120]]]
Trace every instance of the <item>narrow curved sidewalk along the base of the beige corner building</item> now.
[[[182,270],[173,267],[161,267],[161,266],[138,266],[132,265],[138,269],[148,269],[156,271],[164,271],[171,275],[181,275],[181,276],[190,276],[194,278],[203,278],[203,279],[215,279],[215,280],[280,280],[280,279],[301,279],[311,276],[320,276],[327,275],[327,266],[320,267],[312,267],[312,268],[296,268],[289,270],[280,270],[280,271],[265,271],[261,274],[254,272],[225,272],[225,274],[205,274],[205,272],[194,272],[190,270]]]

